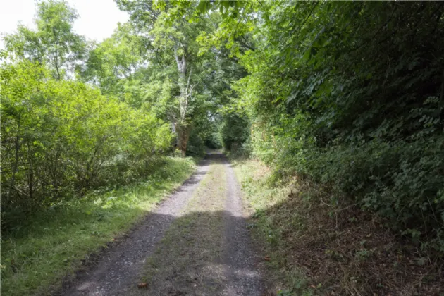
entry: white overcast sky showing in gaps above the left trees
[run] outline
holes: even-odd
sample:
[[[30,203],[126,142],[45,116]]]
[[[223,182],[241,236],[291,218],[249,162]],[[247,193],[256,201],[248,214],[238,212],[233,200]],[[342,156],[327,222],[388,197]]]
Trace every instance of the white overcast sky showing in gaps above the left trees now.
[[[111,37],[117,23],[124,23],[129,18],[128,13],[118,10],[113,0],[67,1],[79,15],[74,23],[74,31],[87,39],[100,42]],[[35,3],[35,0],[0,0],[0,34],[15,32],[19,21],[27,27],[35,28]],[[4,44],[0,40],[2,48]]]

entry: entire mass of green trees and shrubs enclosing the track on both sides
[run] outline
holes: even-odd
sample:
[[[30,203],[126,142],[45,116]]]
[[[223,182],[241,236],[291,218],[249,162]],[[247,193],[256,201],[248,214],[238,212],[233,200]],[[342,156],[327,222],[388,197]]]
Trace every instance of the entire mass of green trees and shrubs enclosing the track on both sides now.
[[[444,251],[442,3],[116,4],[130,21],[100,43],[58,0],[5,37],[7,217],[223,146]]]

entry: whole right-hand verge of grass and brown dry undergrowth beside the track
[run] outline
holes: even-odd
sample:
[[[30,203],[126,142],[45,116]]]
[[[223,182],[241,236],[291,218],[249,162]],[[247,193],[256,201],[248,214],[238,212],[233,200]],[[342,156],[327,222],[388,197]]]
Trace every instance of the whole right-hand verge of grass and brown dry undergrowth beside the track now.
[[[276,180],[259,161],[233,162],[270,295],[444,295],[443,259],[381,218],[296,176]]]

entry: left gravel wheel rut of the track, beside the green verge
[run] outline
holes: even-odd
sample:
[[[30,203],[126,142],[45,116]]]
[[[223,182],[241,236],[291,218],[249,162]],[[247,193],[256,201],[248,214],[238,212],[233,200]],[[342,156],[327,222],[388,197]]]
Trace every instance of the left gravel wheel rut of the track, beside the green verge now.
[[[145,259],[152,254],[171,223],[178,218],[209,169],[204,160],[192,175],[171,197],[159,206],[121,244],[99,259],[93,271],[78,276],[60,295],[113,296],[125,291],[139,278]]]

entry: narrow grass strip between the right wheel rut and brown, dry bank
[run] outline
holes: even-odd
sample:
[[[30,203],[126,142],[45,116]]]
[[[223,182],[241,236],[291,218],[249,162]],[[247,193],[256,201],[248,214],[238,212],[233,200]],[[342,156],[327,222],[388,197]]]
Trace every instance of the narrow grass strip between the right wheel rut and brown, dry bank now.
[[[252,236],[261,248],[261,253],[269,257],[263,264],[269,294],[313,295],[312,289],[307,287],[304,272],[287,261],[289,252],[285,240],[288,237],[283,237],[283,230],[293,224],[292,235],[297,236],[297,228],[303,226],[295,209],[279,206],[287,201],[292,183],[279,184],[271,181],[271,170],[259,161],[233,159],[232,163],[242,186],[242,198],[252,216],[249,221]],[[278,211],[273,210],[278,207]]]

